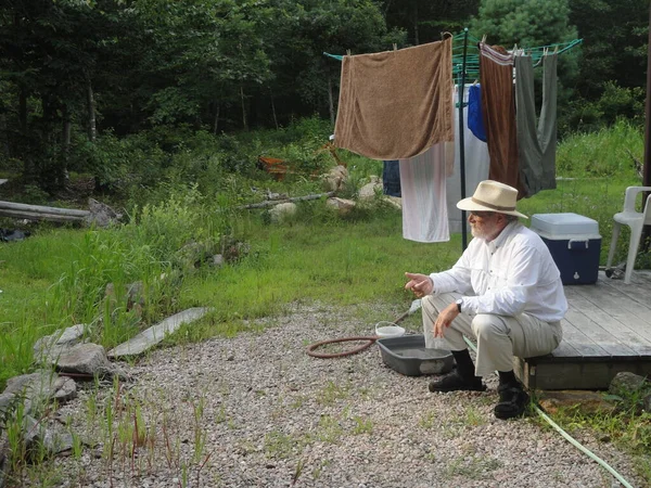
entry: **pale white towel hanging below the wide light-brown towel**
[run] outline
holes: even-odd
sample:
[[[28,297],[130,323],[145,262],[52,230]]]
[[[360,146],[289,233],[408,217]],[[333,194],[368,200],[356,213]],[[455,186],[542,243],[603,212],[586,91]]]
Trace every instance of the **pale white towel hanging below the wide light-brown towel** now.
[[[403,237],[417,242],[450,240],[446,207],[446,143],[400,159]]]

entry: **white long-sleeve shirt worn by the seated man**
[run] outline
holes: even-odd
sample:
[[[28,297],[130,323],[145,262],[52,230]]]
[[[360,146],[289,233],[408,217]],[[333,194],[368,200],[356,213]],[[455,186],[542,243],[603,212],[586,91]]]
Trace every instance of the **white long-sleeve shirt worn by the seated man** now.
[[[493,241],[473,239],[448,271],[430,274],[434,295],[459,292],[464,313],[516,316],[545,322],[567,311],[561,273],[538,234],[515,221]]]

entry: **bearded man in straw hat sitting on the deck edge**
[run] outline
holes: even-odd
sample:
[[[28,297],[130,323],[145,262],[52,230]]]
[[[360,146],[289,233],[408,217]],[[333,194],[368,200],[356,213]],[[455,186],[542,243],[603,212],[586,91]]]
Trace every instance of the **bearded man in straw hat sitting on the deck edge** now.
[[[518,220],[527,217],[515,210],[516,196],[512,187],[482,181],[472,197],[457,204],[470,211],[474,236],[461,258],[439,273],[406,273],[405,285],[423,297],[425,347],[435,347],[435,337],[443,337],[457,362],[455,371],[430,383],[430,391],[483,391],[482,376],[497,370],[498,419],[522,415],[529,402],[513,373],[513,357],[556,349],[567,310],[549,249]],[[463,335],[476,339],[476,365]]]

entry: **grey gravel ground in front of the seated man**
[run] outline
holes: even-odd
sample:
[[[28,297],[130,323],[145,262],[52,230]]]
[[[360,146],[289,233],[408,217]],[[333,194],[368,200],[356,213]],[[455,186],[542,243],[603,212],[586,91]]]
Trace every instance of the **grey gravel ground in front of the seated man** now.
[[[363,316],[297,306],[261,332],[156,350],[129,367],[129,385],[86,388],[59,411],[91,445],[58,461],[60,486],[618,486],[551,428],[495,419],[496,378],[486,393],[431,394],[430,377],[386,368],[375,345],[342,359],[305,354],[371,334]],[[148,427],[136,449],[135,421]],[[626,455],[578,440],[641,486]]]

